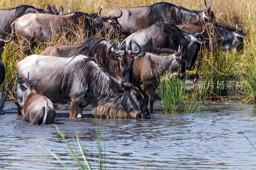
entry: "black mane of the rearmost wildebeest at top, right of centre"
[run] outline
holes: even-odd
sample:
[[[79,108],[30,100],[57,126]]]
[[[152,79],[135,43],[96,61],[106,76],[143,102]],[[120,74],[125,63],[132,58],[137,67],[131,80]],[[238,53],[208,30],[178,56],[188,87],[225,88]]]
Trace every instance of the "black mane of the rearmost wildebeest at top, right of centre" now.
[[[148,22],[150,25],[155,22],[160,16],[165,16],[170,7],[177,7],[174,4],[168,2],[159,2],[152,4],[148,8]]]

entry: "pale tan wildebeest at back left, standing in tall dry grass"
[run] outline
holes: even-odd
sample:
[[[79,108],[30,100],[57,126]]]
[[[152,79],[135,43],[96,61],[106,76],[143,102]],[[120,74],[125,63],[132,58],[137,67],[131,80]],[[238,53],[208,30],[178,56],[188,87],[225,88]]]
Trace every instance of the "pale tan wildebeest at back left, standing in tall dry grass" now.
[[[96,17],[91,18],[87,13],[71,12],[69,14],[55,16],[47,14],[26,14],[12,23],[12,32],[17,34],[20,45],[24,46],[23,50],[26,54],[34,50],[34,46],[39,42],[46,42],[52,38],[55,33],[70,33],[75,24],[84,28],[84,32],[88,37],[97,35],[98,33],[108,33],[115,35],[119,32],[118,22],[110,22],[110,18]],[[112,18],[116,20],[116,18]],[[114,24],[117,25],[114,25]],[[76,27],[75,26],[75,27]],[[30,50],[31,49],[31,50]]]

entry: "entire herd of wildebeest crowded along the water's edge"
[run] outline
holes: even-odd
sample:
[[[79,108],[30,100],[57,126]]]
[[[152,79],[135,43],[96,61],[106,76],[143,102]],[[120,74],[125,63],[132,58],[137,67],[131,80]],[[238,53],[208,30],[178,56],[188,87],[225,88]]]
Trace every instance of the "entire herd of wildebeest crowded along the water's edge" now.
[[[216,22],[206,1],[202,11],[167,2],[117,8],[105,16],[100,11],[68,9],[63,14],[62,6],[51,5],[47,11],[29,5],[0,10],[0,54],[15,36],[29,55],[17,64],[15,85],[14,102],[24,122],[54,123],[60,102],[70,102],[70,118],[82,117],[83,107],[90,104],[99,117],[149,119],[147,105],[152,113],[161,75],[185,78],[199,55],[196,83],[202,48],[243,53],[243,26]],[[82,28],[84,43],[51,46],[34,54],[38,43],[48,41],[53,33],[72,36],[74,27]],[[99,35],[113,40],[96,38]],[[3,83],[4,65],[0,65]]]

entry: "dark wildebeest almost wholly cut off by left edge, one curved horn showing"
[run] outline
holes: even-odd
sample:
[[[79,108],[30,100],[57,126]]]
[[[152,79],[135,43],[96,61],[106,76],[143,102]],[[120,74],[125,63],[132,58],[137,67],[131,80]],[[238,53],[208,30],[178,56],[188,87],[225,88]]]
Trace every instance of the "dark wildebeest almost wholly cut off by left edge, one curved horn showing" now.
[[[7,35],[10,36],[10,40],[6,41],[0,38],[0,85],[4,82],[5,78],[5,69],[4,69],[4,63],[2,62],[2,53],[4,51],[4,45],[5,43],[11,42],[12,41],[12,35],[9,33],[6,33]],[[3,109],[4,107],[4,102],[5,102],[6,95],[3,93],[0,93],[0,110]]]

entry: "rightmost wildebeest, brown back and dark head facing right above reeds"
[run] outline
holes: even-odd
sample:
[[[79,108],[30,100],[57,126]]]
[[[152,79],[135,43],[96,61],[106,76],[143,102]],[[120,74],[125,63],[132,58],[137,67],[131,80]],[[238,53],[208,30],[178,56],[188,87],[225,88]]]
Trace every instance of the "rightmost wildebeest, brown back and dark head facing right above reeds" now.
[[[221,51],[236,50],[240,53],[243,53],[244,36],[247,34],[243,33],[243,26],[241,29],[238,29],[236,26],[236,28],[232,30],[231,28],[224,29],[211,23],[195,22],[191,24],[179,25],[179,27],[187,33],[200,33],[199,38],[207,41],[205,43],[207,48],[216,46]],[[201,34],[203,30],[206,31]]]

